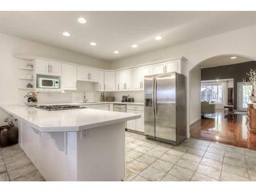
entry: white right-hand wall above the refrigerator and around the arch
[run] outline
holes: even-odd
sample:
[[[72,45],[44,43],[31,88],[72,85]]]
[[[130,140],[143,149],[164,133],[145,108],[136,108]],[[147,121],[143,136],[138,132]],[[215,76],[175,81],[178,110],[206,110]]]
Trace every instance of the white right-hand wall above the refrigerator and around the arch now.
[[[188,31],[188,33],[190,33]],[[114,61],[112,69],[124,68],[134,65],[140,65],[147,62],[155,62],[168,58],[176,58],[184,56],[187,58],[185,62],[185,75],[189,76],[189,71],[193,69],[199,62],[223,54],[244,55],[256,58],[256,26],[230,31],[211,37],[206,37],[185,44],[175,45],[172,47],[151,51],[144,54],[131,56],[129,58]],[[164,38],[162,39],[164,40]],[[189,78],[187,78],[187,125],[191,113],[189,111]],[[187,126],[187,136],[189,137],[189,126]]]

